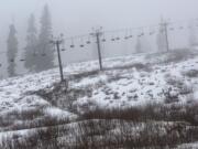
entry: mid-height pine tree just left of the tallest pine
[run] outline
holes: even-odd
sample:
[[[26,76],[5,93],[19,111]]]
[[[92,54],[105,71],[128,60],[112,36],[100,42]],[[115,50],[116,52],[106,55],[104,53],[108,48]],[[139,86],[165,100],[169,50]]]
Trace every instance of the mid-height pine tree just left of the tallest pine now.
[[[26,35],[26,47],[25,47],[25,67],[31,72],[34,71],[36,65],[36,47],[37,47],[37,30],[35,26],[34,14],[31,14],[28,24],[28,35]]]

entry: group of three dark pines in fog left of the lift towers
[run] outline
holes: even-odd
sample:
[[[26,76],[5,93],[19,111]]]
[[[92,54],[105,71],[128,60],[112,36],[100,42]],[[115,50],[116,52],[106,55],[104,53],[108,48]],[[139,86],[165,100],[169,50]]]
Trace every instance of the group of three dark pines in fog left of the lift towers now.
[[[32,13],[28,20],[26,29],[26,45],[24,47],[24,66],[30,72],[41,72],[54,66],[54,52],[50,44],[52,31],[52,17],[48,6],[43,8],[40,20],[40,32],[36,28],[36,19]],[[15,76],[15,58],[19,50],[19,41],[16,38],[16,29],[12,23],[10,25],[7,40],[7,57],[8,57],[8,74],[10,77]]]

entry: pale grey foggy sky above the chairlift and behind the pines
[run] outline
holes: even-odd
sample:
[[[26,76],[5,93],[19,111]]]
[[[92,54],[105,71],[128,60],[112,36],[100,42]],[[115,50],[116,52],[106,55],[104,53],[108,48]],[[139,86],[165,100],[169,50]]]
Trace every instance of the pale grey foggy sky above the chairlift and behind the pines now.
[[[54,34],[64,33],[65,36],[89,33],[92,26],[114,30],[157,24],[161,17],[169,21],[198,18],[197,0],[0,0],[0,51],[7,50],[9,24],[14,23],[20,43],[19,51],[22,53],[25,45],[28,18],[30,13],[34,13],[38,25],[45,3],[48,3],[51,9]],[[185,35],[183,33],[177,36]],[[170,36],[170,39],[175,38]],[[173,42],[185,43],[184,41],[184,39],[177,38],[177,41],[170,41],[170,44]],[[187,43],[185,44],[187,45]],[[118,47],[118,45],[114,46]],[[114,46],[106,45],[106,49]],[[128,49],[127,46],[120,44],[119,50]],[[87,60],[87,55],[92,56],[92,52],[89,54],[84,52],[81,58],[76,56],[79,55],[78,52],[68,52],[66,56],[69,56],[64,58],[64,62],[84,61]],[[3,57],[0,56],[1,60]],[[3,66],[6,68],[6,64]],[[23,71],[22,65],[19,64],[19,67],[21,67],[19,72]],[[6,74],[4,72],[6,70],[1,70],[1,74]]]

